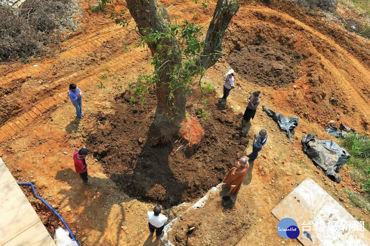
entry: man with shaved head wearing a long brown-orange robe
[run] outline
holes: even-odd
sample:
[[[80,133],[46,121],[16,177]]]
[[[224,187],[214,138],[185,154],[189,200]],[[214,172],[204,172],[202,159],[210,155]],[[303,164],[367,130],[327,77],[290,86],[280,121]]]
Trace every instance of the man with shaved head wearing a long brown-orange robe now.
[[[230,169],[228,174],[226,174],[226,177],[223,180],[223,182],[229,189],[231,188],[231,185],[236,185],[236,187],[233,188],[230,194],[238,194],[248,170],[249,163],[246,158],[242,157],[239,159],[239,161],[235,162],[234,166]]]

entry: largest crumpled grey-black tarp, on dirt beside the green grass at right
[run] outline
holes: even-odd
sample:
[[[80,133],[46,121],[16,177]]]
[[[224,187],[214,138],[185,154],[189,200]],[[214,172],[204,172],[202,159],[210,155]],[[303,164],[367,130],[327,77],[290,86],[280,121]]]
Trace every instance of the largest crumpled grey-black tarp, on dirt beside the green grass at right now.
[[[342,180],[339,170],[351,157],[345,148],[332,140],[319,140],[315,134],[306,134],[302,145],[307,156],[319,165],[327,176],[332,176],[338,183]]]

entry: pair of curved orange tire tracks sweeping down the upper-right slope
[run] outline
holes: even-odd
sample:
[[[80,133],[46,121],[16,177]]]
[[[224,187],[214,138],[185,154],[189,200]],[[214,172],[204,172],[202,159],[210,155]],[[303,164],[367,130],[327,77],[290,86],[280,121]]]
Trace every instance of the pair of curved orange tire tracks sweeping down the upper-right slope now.
[[[365,83],[367,86],[369,86],[370,81],[370,71],[363,65],[359,60],[357,60],[353,55],[349,54],[344,48],[342,48],[339,44],[337,44],[332,38],[317,32],[312,27],[302,23],[299,20],[296,20],[295,18],[289,16],[286,13],[280,13],[275,10],[272,10],[270,8],[261,8],[261,7],[248,7],[247,8],[250,11],[256,11],[256,12],[263,12],[263,13],[269,13],[269,14],[276,14],[277,16],[280,16],[282,18],[285,18],[286,20],[292,21],[296,25],[299,25],[303,28],[305,28],[306,31],[311,33],[312,35],[315,35],[322,40],[325,40],[330,44],[330,46],[334,47],[339,51],[343,57],[345,57],[350,64],[361,73],[361,80],[363,83]],[[275,23],[276,25],[276,23]],[[324,62],[327,67],[330,68],[330,71],[332,72],[332,75],[336,80],[340,83],[338,86],[339,88],[342,88],[344,92],[348,95],[350,95],[353,99],[353,103],[356,103],[357,107],[361,109],[362,112],[364,112],[364,116],[367,117],[370,113],[370,105],[369,102],[366,99],[366,96],[361,92],[361,90],[357,87],[356,84],[352,84],[350,81],[348,81],[345,78],[345,74],[347,72],[341,72],[343,69],[337,68],[332,62],[330,62],[328,59],[324,57],[318,50],[317,53],[322,58],[322,61]]]

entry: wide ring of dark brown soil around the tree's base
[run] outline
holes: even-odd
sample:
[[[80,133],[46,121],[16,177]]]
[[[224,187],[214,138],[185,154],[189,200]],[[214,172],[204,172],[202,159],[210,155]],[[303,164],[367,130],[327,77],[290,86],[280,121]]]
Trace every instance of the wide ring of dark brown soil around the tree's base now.
[[[86,145],[111,180],[132,197],[167,208],[194,201],[223,180],[248,144],[236,130],[242,116],[234,115],[227,106],[222,109],[213,93],[206,97],[207,103],[203,96],[203,103],[197,106],[200,92],[196,90],[187,106],[190,116],[199,109],[203,112],[198,120],[205,136],[196,152],[186,154],[176,137],[152,147],[150,139],[158,134],[152,124],[155,92],[149,93],[145,106],[131,105],[128,95],[116,99],[115,114],[97,116],[96,131],[89,134]]]

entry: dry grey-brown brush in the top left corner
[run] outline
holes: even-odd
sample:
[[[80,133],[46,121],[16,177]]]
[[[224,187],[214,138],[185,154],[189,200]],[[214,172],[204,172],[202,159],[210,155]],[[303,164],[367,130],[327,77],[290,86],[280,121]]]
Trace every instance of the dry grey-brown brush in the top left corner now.
[[[60,31],[74,30],[74,0],[27,0],[19,8],[0,4],[0,61],[37,56],[44,45],[60,42]]]

